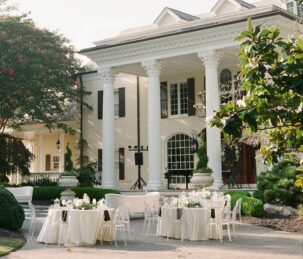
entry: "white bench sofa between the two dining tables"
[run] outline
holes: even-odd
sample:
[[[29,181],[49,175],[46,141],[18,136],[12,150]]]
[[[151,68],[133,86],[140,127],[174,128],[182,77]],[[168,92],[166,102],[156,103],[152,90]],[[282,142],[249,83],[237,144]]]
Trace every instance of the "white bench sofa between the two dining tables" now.
[[[118,208],[125,203],[130,204],[130,213],[144,213],[146,202],[150,208],[159,207],[159,192],[149,192],[143,195],[121,195],[108,193],[105,194],[105,204],[110,208]]]

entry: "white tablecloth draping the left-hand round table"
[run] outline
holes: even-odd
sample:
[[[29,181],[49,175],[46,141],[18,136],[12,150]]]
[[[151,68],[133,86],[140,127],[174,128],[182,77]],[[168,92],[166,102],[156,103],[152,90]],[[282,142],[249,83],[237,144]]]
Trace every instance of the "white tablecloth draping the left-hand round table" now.
[[[103,210],[68,210],[63,221],[62,208],[50,208],[37,238],[38,242],[64,245],[94,245],[97,239],[113,240],[110,233],[100,236]],[[109,209],[111,219],[114,210]]]

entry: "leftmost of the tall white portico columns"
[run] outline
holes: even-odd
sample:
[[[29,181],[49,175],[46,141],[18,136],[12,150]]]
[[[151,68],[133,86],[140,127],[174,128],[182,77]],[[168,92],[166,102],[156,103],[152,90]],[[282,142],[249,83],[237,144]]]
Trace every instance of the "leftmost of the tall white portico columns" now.
[[[115,188],[114,81],[111,68],[100,71],[103,82],[102,188]]]

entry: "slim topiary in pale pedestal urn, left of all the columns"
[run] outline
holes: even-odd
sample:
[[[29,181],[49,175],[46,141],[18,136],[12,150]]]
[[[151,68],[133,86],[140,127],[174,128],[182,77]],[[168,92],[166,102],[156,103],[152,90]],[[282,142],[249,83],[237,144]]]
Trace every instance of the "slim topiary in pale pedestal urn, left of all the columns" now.
[[[75,192],[70,188],[78,186],[79,174],[74,170],[73,161],[71,159],[72,151],[69,147],[69,143],[66,145],[66,153],[64,154],[64,173],[59,177],[59,186],[66,187],[66,189],[61,193],[61,200],[73,200],[76,197]]]

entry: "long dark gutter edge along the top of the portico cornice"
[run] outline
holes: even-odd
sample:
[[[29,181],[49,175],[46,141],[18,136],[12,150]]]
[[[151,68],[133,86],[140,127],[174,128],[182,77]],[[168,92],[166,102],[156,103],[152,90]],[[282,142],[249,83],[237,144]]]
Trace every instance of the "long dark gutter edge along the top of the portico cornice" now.
[[[185,34],[185,33],[191,33],[191,32],[195,32],[195,31],[216,28],[216,27],[220,27],[220,26],[226,26],[226,25],[230,25],[230,24],[235,24],[235,23],[247,21],[247,19],[249,17],[251,17],[252,20],[255,20],[255,19],[275,16],[275,15],[281,15],[281,16],[284,16],[284,17],[289,18],[291,20],[296,20],[297,19],[296,15],[294,15],[292,13],[289,13],[288,11],[283,10],[283,9],[277,7],[277,6],[274,6],[274,7],[275,7],[276,10],[272,10],[272,11],[261,13],[261,14],[255,14],[255,15],[252,15],[252,16],[248,15],[248,16],[245,16],[243,18],[239,18],[239,19],[236,19],[236,20],[233,20],[233,21],[222,22],[222,23],[215,22],[215,23],[206,24],[206,25],[198,25],[196,27],[192,27],[192,28],[188,28],[188,29],[187,28],[182,29],[181,31],[175,31],[175,32],[167,33],[165,35],[158,35],[158,36],[148,37],[148,38],[144,38],[144,39],[137,39],[137,40],[135,39],[135,40],[125,41],[125,42],[112,44],[112,45],[103,45],[103,46],[101,45],[101,46],[81,49],[81,50],[78,51],[78,53],[88,53],[88,52],[102,50],[102,49],[109,49],[109,48],[114,48],[114,47],[119,47],[119,46],[124,46],[124,45],[130,45],[130,44],[134,44],[134,43],[145,42],[145,41],[149,41],[149,40],[161,39],[161,38],[165,38],[165,37],[176,36],[176,35],[181,35],[181,34]]]

